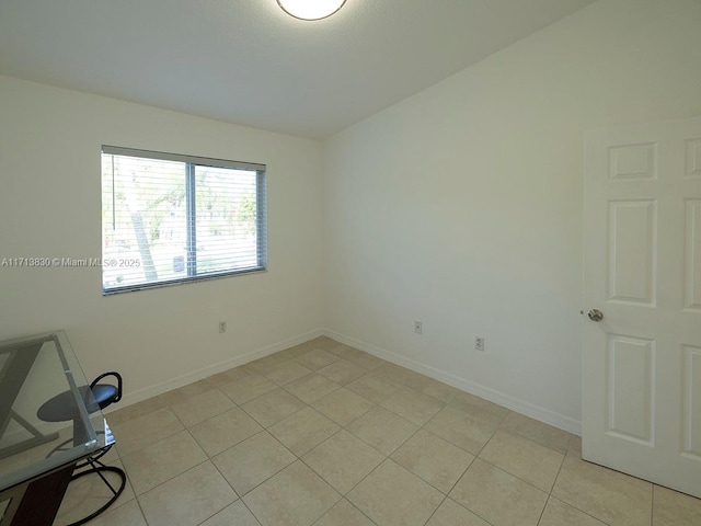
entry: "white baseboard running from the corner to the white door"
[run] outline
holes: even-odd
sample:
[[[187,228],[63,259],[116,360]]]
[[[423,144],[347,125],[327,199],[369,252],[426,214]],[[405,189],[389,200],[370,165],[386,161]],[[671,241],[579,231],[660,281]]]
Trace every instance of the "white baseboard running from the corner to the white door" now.
[[[470,395],[474,395],[475,397],[480,397],[491,402],[498,403],[499,405],[510,409],[512,411],[515,411],[517,413],[530,416],[531,419],[536,419],[540,422],[544,422],[545,424],[550,424],[554,427],[567,431],[575,435],[582,435],[582,422],[578,420],[574,420],[568,416],[555,413],[549,409],[541,408],[540,405],[519,400],[495,389],[481,386],[480,384],[475,384],[474,381],[466,380],[464,378],[460,378],[450,373],[446,373],[445,370],[440,370],[429,365],[422,364],[421,362],[401,356],[399,354],[392,353],[370,343],[356,340],[336,331],[326,329],[324,331],[324,335],[332,338],[337,342],[350,345],[352,347],[365,351],[366,353],[377,356],[378,358],[382,358],[393,364],[401,365],[402,367],[406,367],[407,369],[412,369],[416,373],[421,373],[422,375],[426,375],[430,378],[443,381],[444,384],[448,384],[449,386],[469,392]]]

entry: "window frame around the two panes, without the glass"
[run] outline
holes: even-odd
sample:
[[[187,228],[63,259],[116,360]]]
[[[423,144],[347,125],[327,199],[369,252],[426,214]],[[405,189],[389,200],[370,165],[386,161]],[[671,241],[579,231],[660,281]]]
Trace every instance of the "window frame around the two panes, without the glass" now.
[[[170,287],[174,285],[183,285],[185,283],[195,283],[209,279],[219,279],[241,274],[253,274],[267,271],[267,178],[266,165],[253,162],[230,161],[225,159],[214,159],[207,157],[187,156],[181,153],[166,153],[162,151],[142,150],[136,148],[125,148],[118,146],[103,145],[101,151],[101,188],[103,187],[102,163],[104,156],[124,156],[142,158],[149,160],[175,161],[185,164],[185,199],[186,206],[186,258],[185,270],[187,275],[177,278],[160,279],[156,282],[139,283],[134,285],[112,286],[105,288],[104,284],[104,266],[101,273],[102,295],[111,296],[115,294],[130,293],[136,290],[145,290],[151,288]],[[255,202],[256,202],[256,265],[244,268],[228,268],[220,271],[209,271],[197,273],[196,263],[196,243],[197,243],[197,206],[196,206],[196,167],[219,168],[231,170],[254,171],[256,174],[255,184]],[[114,191],[112,193],[114,199]],[[101,202],[104,199],[104,191],[101,191]],[[101,237],[104,236],[104,218],[101,218]],[[101,242],[102,258],[104,258],[104,237]]]

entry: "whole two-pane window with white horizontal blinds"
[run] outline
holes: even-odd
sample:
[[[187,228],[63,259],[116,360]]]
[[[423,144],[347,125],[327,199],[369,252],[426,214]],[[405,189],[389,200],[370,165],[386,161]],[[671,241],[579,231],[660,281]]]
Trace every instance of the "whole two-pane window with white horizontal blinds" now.
[[[265,165],[102,147],[103,294],[264,271]]]

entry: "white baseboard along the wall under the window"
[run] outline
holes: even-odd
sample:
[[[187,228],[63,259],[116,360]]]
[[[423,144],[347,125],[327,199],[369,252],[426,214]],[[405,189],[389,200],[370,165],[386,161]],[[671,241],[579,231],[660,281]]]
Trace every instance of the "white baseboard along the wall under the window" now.
[[[203,367],[202,369],[193,370],[191,373],[187,373],[186,375],[177,376],[175,378],[171,378],[170,380],[154,384],[143,389],[125,392],[122,397],[122,401],[118,404],[111,405],[107,410],[104,411],[104,413],[107,414],[111,411],[116,411],[127,405],[131,405],[133,403],[147,400],[151,397],[163,395],[164,392],[168,392],[170,390],[177,389],[179,387],[186,386],[187,384],[202,380],[209,376],[216,375],[217,373],[222,373],[233,367],[239,367],[240,365],[248,364],[249,362],[253,362],[254,359],[263,358],[294,345],[308,342],[309,340],[313,340],[314,338],[321,336],[323,334],[324,331],[318,329],[315,331],[307,332],[304,334],[300,334],[298,336],[294,336],[278,343],[251,351],[249,353],[240,354],[223,362],[219,362],[215,365],[208,365],[206,367]]]

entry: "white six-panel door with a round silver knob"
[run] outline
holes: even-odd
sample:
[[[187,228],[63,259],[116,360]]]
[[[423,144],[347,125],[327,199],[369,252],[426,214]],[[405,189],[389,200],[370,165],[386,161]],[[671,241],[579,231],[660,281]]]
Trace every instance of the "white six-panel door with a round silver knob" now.
[[[583,457],[701,496],[701,117],[591,130],[585,163]]]

